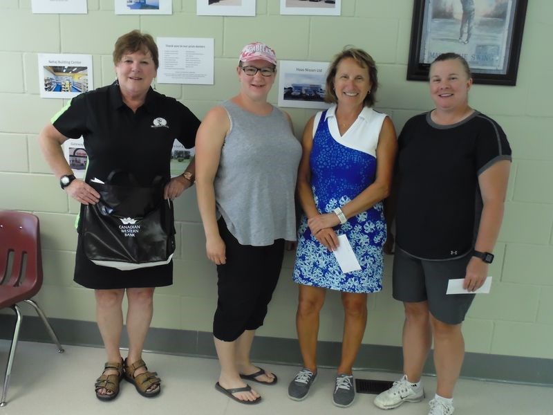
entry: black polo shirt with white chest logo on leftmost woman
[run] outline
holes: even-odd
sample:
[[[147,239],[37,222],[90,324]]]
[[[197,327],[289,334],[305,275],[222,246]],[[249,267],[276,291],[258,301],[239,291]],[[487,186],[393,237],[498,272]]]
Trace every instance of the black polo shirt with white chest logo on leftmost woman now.
[[[52,123],[66,137],[84,137],[86,180],[104,181],[113,169],[122,169],[149,185],[158,175],[169,181],[174,140],[194,147],[200,120],[174,98],[153,89],[133,113],[114,82],[77,95]]]

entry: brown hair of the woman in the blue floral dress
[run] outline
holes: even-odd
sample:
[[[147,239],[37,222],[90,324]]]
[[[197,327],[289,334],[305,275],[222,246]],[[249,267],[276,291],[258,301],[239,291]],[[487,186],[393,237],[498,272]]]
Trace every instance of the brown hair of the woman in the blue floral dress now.
[[[332,63],[328,67],[328,74],[326,75],[326,93],[324,96],[324,100],[325,102],[330,102],[331,104],[335,104],[338,102],[338,97],[336,96],[336,93],[334,91],[334,77],[336,76],[338,64],[343,59],[346,59],[348,57],[354,59],[355,62],[357,62],[357,64],[359,64],[359,66],[361,66],[362,68],[368,69],[368,77],[371,81],[371,91],[369,91],[363,102],[365,104],[365,107],[373,107],[376,102],[375,93],[378,89],[378,78],[375,59],[373,59],[373,57],[366,53],[363,49],[352,48],[350,46],[346,46],[344,50],[335,55]]]

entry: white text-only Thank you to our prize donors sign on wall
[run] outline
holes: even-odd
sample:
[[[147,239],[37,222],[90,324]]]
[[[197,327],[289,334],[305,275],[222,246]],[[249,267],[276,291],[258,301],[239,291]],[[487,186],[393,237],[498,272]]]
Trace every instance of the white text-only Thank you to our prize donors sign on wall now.
[[[214,41],[199,37],[158,37],[160,84],[213,85]]]

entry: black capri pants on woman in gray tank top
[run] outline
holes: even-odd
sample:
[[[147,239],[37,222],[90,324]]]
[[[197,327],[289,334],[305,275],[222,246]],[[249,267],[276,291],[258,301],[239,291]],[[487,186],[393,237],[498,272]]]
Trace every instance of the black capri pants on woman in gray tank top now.
[[[218,221],[225,242],[226,264],[217,266],[218,300],[213,320],[213,335],[232,342],[245,330],[263,325],[267,306],[277,287],[284,257],[284,240],[269,246],[241,245]]]

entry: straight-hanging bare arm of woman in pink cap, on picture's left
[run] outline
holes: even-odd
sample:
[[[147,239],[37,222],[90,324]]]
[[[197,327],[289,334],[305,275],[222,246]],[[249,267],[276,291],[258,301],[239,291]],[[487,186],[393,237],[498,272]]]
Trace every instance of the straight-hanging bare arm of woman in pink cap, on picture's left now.
[[[196,135],[196,194],[205,232],[207,257],[215,264],[225,264],[225,243],[217,227],[214,180],[221,160],[221,149],[230,128],[223,107],[211,109]]]

